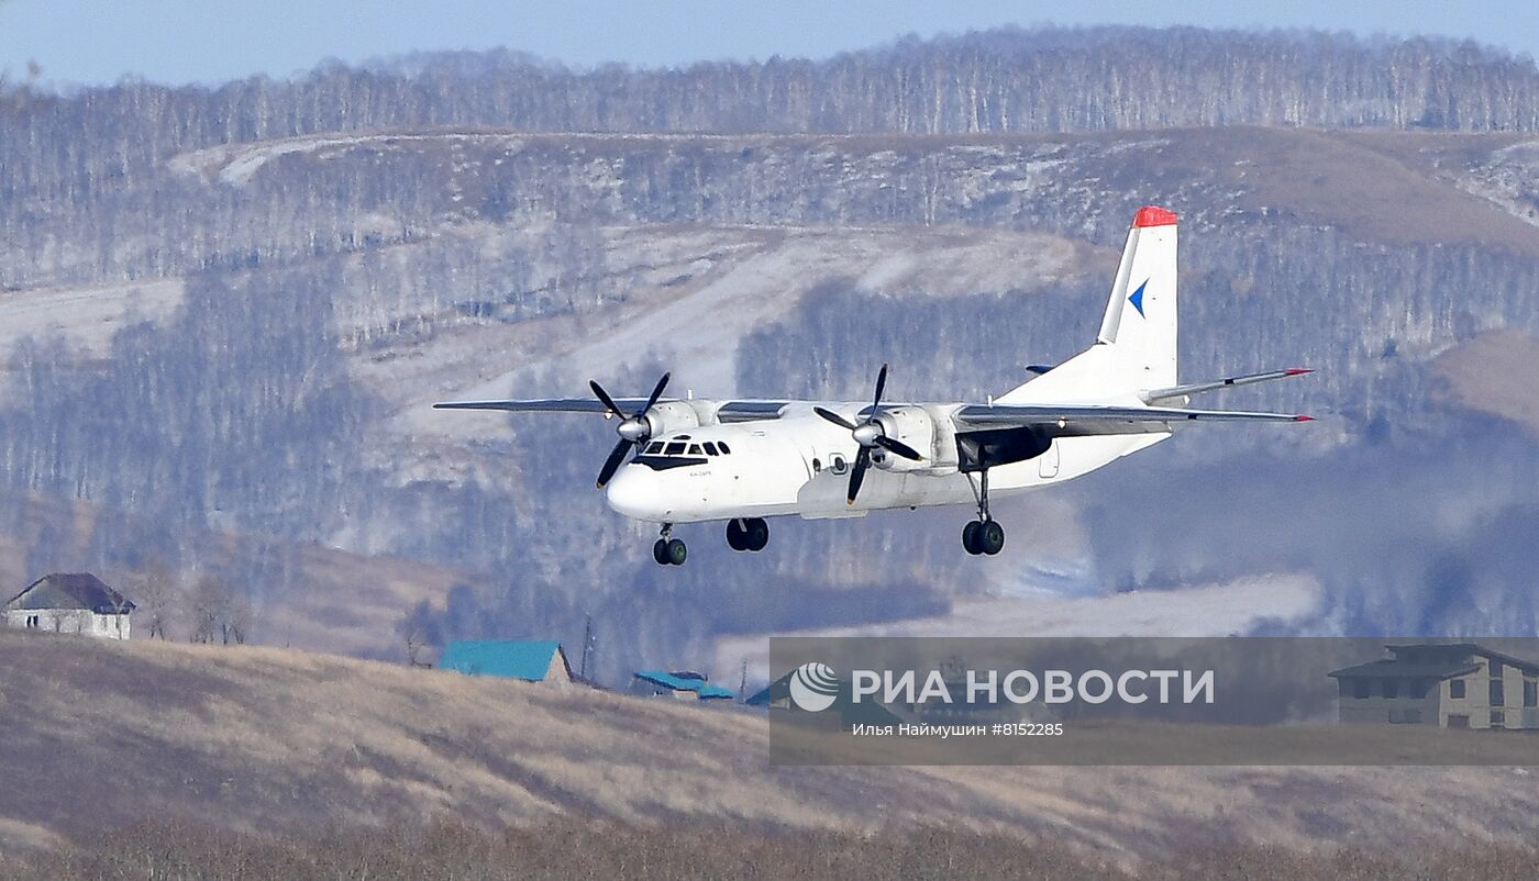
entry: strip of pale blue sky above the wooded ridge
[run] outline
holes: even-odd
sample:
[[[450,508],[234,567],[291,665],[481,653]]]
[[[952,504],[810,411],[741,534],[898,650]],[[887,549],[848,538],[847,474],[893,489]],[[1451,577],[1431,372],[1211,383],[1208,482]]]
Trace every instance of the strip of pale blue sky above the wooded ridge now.
[[[571,66],[828,57],[905,34],[1002,25],[1324,28],[1473,37],[1539,57],[1533,2],[1456,0],[0,0],[0,72],[103,85],[288,77],[328,58],[506,46]]]

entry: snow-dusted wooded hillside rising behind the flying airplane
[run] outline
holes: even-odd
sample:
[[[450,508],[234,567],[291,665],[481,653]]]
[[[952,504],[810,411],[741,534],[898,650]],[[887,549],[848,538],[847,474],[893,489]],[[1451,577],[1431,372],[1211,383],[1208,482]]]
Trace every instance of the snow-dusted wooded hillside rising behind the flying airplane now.
[[[1045,28],[9,95],[0,580],[163,564],[234,584],[255,641],[374,657],[400,626],[591,632],[611,683],[1070,600],[1096,632],[1177,626],[1200,615],[1119,597],[1273,573],[1307,601],[1217,620],[1531,629],[1534,546],[1496,537],[1539,510],[1539,446],[1502,418],[1539,335],[1536,88],[1441,40]],[[1316,369],[1202,403],[1320,420],[1002,501],[997,558],[959,554],[957,509],[783,520],[751,558],[691,526],[662,572],[656,527],[593,489],[611,424],[429,409],[663,371],[853,400],[883,363],[894,400],[985,400],[1093,338],[1145,203],[1182,215],[1183,378]]]

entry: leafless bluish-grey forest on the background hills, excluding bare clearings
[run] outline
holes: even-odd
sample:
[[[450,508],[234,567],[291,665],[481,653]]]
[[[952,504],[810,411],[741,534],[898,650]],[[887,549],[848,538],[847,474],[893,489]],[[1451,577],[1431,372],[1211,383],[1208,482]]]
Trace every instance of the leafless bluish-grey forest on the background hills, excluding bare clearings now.
[[[773,557],[728,564],[702,541],[689,567],[662,573],[633,527],[588,504],[602,429],[553,418],[457,449],[482,466],[474,478],[423,477],[402,464],[416,438],[389,424],[403,404],[362,381],[359,361],[405,361],[460,329],[602,315],[636,294],[611,275],[616,229],[1003,228],[1114,260],[1127,181],[1183,151],[1200,165],[1205,148],[1182,128],[1274,126],[1248,135],[1257,149],[1297,126],[1539,128],[1530,58],[1202,29],[999,31],[662,71],[448,54],[214,89],[3,92],[0,309],[54,288],[180,291],[174,311],[131,314],[98,351],[38,334],[3,354],[0,524],[25,526],[34,495],[117,514],[80,541],[40,540],[29,566],[197,569],[215,564],[215,532],[389,554],[472,573],[403,609],[403,624],[434,640],[576,644],[591,623],[609,678],[699,658],[719,633],[945,610],[970,583],[960,521],[777,523]],[[1527,169],[1499,171],[1514,168]],[[1183,374],[1305,363],[1320,369],[1307,397],[1271,387],[1222,404],[1325,401],[1333,423],[1302,438],[1193,432],[1125,484],[1067,490],[1096,537],[1102,586],[1304,567],[1330,592],[1324,629],[1539,621],[1522,589],[1533,550],[1488,541],[1531,521],[1539,497],[1524,477],[1539,450],[1505,423],[1471,424],[1430,367],[1487,331],[1539,332],[1533,252],[1300,221],[1217,175],[1159,186],[1194,231]],[[1093,277],[946,298],[834,278],[745,337],[723,381],[854,398],[879,364],[922,363],[902,377],[905,395],[979,398],[1088,340],[1105,301],[1105,272]],[[611,369],[649,383],[671,366],[617,352]],[[534,443],[546,452],[520,467],[516,449]],[[1213,461],[1224,480],[1188,490]],[[1256,501],[1267,481],[1354,503],[1290,532],[1277,520],[1311,509]],[[1119,504],[1097,501],[1113,486]],[[1180,523],[1159,517],[1173,497]],[[1364,526],[1365,512],[1454,498],[1477,501],[1450,504],[1473,509],[1461,518]],[[1242,503],[1268,510],[1254,532],[1225,529]],[[74,546],[89,558],[52,550]],[[1365,547],[1396,564],[1362,563]],[[294,566],[225,564],[259,609],[305,589]]]

